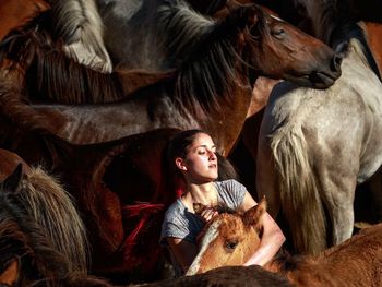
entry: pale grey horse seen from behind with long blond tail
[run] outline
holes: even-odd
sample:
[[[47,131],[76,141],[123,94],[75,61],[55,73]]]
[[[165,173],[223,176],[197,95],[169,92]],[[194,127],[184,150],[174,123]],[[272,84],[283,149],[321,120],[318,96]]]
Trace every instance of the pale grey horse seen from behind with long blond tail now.
[[[286,217],[295,249],[318,253],[351,236],[356,184],[382,164],[382,84],[378,70],[366,64],[375,62],[368,61],[362,29],[346,16],[341,23],[331,7],[309,3],[320,38],[331,46],[347,39],[348,56],[326,91],[287,82],[273,89],[259,135],[256,183],[271,215]]]

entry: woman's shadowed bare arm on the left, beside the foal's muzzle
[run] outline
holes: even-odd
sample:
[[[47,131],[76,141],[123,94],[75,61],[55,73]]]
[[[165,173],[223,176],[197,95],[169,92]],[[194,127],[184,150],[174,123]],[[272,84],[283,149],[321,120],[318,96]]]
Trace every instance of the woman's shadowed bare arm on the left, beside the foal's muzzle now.
[[[198,254],[198,247],[180,238],[167,237],[166,240],[175,259],[180,264],[183,272],[187,272]]]

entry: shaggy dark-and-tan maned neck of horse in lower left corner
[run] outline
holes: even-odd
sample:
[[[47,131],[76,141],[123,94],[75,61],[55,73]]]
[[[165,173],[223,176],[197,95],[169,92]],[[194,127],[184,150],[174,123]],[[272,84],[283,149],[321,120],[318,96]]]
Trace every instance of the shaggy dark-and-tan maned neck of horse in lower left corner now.
[[[0,268],[19,259],[21,286],[28,280],[56,286],[72,272],[85,274],[84,230],[69,194],[39,167],[17,190],[0,192]]]

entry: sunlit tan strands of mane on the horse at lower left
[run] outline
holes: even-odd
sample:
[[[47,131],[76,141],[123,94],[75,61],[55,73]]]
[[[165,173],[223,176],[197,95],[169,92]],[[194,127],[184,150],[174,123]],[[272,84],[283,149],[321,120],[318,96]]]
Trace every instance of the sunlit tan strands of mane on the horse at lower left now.
[[[70,194],[39,167],[32,168],[23,186],[25,192],[20,196],[53,248],[67,256],[69,271],[85,273],[89,261],[88,242]]]

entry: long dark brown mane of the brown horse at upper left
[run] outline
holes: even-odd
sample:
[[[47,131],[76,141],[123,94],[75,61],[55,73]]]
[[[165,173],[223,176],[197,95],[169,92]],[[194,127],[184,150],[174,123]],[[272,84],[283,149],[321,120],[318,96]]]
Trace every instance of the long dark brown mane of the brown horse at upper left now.
[[[126,95],[118,73],[104,74],[69,58],[62,38],[52,38],[51,21],[51,11],[47,11],[4,38],[0,57],[14,62],[10,70],[15,67],[24,69],[26,83],[39,97],[45,97],[44,100],[77,104],[123,98]],[[33,79],[27,82],[28,77]]]

